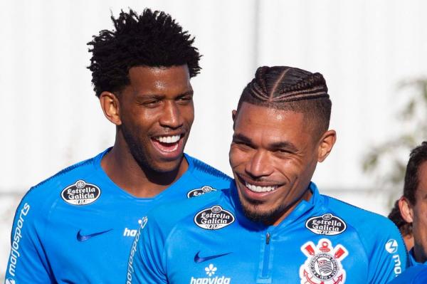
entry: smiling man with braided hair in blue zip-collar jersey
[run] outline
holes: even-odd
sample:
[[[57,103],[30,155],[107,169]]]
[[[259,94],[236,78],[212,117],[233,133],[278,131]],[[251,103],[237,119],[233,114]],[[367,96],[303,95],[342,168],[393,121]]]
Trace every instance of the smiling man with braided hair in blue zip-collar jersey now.
[[[229,189],[159,206],[143,219],[128,283],[388,283],[406,268],[383,216],[319,193],[330,154],[325,79],[258,68],[233,110]]]

